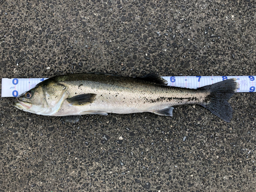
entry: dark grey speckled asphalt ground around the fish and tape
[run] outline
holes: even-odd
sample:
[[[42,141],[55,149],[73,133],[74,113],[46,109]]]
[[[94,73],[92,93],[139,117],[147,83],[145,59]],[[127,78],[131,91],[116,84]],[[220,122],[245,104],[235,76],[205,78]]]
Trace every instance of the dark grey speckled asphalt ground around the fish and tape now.
[[[0,1],[1,78],[256,75],[255,1]],[[199,105],[173,117],[76,123],[1,98],[0,191],[254,191],[255,93],[224,122]]]

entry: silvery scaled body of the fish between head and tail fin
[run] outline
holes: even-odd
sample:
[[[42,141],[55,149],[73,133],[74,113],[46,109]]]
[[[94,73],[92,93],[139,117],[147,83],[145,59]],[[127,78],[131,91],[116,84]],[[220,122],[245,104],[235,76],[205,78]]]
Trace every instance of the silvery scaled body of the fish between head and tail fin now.
[[[86,80],[81,80],[86,79]],[[96,94],[95,101],[89,105],[69,106],[63,103],[63,108],[56,116],[80,111],[105,111],[106,113],[139,113],[154,112],[168,106],[193,104],[203,102],[206,92],[182,88],[172,88],[141,79],[113,76],[84,74],[75,78],[74,75],[56,78],[66,87],[70,97],[83,93]],[[66,111],[67,113],[63,113]]]

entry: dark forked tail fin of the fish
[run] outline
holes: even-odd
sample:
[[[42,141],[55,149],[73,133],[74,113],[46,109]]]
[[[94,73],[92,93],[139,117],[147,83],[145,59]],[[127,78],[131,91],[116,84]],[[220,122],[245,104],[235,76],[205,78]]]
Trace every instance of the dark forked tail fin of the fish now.
[[[224,121],[230,122],[232,118],[232,108],[229,105],[228,100],[238,89],[236,80],[237,79],[227,79],[211,84],[210,86],[199,88],[199,90],[210,92],[205,99],[206,103],[209,101],[210,103],[201,105]]]

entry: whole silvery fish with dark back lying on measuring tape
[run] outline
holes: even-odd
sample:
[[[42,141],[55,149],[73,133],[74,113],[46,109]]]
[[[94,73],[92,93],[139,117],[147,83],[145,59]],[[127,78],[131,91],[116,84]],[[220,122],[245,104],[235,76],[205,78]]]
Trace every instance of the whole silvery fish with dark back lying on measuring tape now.
[[[15,98],[25,112],[46,116],[151,112],[173,116],[173,106],[199,104],[226,122],[232,118],[229,98],[237,79],[227,79],[198,89],[167,86],[155,74],[125,77],[107,73],[54,76]]]

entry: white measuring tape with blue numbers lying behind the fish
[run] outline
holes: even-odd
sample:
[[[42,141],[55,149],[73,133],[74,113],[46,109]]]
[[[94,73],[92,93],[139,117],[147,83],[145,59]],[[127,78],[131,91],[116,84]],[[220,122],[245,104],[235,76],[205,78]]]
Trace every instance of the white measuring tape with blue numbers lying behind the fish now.
[[[197,89],[223,80],[236,78],[239,83],[237,92],[255,92],[256,76],[172,76],[162,77],[168,86]],[[37,83],[48,78],[2,78],[2,97],[17,97],[34,88]]]

